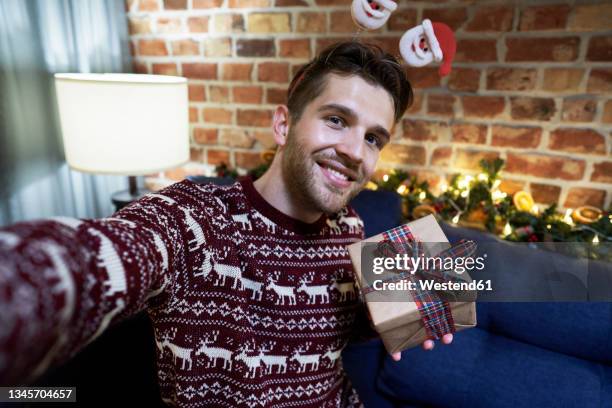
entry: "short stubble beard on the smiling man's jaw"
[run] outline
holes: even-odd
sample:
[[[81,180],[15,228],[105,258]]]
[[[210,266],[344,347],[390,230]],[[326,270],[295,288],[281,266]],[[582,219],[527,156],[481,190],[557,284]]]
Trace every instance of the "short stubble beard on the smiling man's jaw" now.
[[[365,177],[359,171],[359,180],[354,181],[351,187],[338,189],[325,182],[320,169],[317,169],[317,157],[342,162],[328,154],[309,156],[297,141],[297,135],[289,131],[281,163],[284,182],[295,204],[328,215],[335,214],[359,194],[365,185]]]

